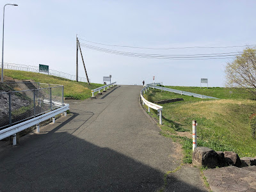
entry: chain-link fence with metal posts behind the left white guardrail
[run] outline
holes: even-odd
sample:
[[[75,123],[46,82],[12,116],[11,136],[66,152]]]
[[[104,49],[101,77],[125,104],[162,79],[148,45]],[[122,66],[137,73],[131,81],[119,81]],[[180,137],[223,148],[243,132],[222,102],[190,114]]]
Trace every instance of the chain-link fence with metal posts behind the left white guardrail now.
[[[60,108],[63,90],[58,84],[0,83],[0,129]]]

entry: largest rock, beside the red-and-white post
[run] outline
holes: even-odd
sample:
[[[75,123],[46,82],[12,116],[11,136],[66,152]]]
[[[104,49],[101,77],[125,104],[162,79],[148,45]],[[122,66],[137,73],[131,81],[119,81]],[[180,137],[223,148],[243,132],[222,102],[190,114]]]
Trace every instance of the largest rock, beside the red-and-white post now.
[[[224,166],[225,161],[211,148],[196,147],[193,152],[192,163],[195,166],[207,166],[207,168],[216,168]]]

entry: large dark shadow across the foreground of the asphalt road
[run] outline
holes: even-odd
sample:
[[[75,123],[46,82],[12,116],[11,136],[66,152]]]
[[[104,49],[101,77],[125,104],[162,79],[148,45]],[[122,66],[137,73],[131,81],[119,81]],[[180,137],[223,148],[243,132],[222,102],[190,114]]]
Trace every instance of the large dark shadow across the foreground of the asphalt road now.
[[[163,172],[79,135],[57,131],[31,136],[0,154],[1,192],[163,189]],[[167,181],[168,189],[173,185],[177,191],[202,191],[174,177]]]

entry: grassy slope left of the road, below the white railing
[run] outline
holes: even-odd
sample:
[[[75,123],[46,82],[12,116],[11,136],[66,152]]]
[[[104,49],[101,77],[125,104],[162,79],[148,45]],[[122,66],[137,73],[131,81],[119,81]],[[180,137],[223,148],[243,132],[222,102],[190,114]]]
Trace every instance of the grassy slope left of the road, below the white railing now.
[[[91,90],[103,85],[97,83],[90,83],[90,85],[88,85],[88,83],[70,81],[61,77],[19,70],[5,69],[4,76],[19,80],[32,80],[40,83],[61,84],[64,85],[64,97],[72,97],[74,99],[87,99],[92,97]]]

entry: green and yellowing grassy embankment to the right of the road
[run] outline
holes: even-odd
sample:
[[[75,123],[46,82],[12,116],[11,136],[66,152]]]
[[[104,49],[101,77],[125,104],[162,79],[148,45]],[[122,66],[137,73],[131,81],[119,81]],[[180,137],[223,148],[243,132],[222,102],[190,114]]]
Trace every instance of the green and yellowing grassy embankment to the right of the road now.
[[[160,90],[146,92],[146,99],[156,102],[183,98],[184,101],[161,104],[163,125],[161,134],[180,141],[184,148],[184,162],[191,163],[192,120],[197,120],[198,146],[213,150],[232,150],[240,157],[256,156],[256,140],[252,138],[249,118],[256,113],[255,97],[241,88],[196,88],[166,86],[220,99],[198,99]],[[232,92],[230,94],[230,92]],[[156,111],[152,116],[157,118]]]

